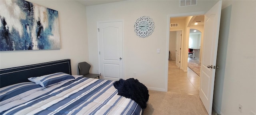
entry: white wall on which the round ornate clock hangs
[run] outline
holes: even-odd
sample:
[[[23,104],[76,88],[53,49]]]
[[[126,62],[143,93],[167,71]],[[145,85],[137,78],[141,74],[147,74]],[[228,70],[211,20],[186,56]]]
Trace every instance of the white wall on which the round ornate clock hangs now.
[[[148,89],[167,91],[168,14],[209,10],[217,1],[199,0],[198,6],[179,7],[178,0],[128,0],[110,4],[87,6],[87,27],[92,72],[98,69],[97,21],[124,19],[124,78],[134,77]],[[155,22],[152,35],[139,38],[134,32],[134,22],[141,16],[150,16]],[[157,54],[156,49],[161,49]],[[187,53],[186,53],[187,54]]]

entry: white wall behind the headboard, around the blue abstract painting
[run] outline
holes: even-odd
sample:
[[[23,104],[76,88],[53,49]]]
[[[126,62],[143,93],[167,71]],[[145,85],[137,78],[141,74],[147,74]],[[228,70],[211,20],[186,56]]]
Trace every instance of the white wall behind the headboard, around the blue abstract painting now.
[[[29,0],[29,2],[58,11],[61,49],[2,51],[0,68],[71,59],[72,74],[77,75],[78,62],[89,61],[85,6],[75,1],[63,0]]]

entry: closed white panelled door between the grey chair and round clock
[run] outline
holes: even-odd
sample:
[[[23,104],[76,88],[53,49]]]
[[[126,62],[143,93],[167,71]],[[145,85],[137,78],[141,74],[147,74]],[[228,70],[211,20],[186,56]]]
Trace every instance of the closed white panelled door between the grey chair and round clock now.
[[[98,22],[102,79],[123,79],[123,20]]]

